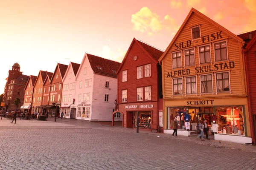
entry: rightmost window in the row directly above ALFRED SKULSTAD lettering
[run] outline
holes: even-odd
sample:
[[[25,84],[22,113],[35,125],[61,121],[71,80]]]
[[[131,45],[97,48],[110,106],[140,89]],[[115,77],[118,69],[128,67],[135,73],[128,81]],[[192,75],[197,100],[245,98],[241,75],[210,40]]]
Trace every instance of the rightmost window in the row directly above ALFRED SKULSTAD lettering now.
[[[227,44],[226,41],[214,44],[215,61],[227,59]]]

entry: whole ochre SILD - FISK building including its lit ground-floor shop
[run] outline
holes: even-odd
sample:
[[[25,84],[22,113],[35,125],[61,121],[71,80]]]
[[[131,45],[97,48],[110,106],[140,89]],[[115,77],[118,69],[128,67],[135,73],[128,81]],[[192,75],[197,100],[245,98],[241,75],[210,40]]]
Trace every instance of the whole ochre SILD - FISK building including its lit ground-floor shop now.
[[[241,38],[191,9],[159,59],[165,133],[173,132],[175,118],[185,136],[207,119],[215,139],[252,141],[241,47]]]

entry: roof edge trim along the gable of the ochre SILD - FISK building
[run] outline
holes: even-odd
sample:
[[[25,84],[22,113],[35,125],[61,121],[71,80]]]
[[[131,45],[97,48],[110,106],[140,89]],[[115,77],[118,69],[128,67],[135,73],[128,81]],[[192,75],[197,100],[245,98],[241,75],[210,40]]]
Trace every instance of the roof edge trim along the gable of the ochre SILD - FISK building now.
[[[223,26],[219,25],[218,23],[216,23],[215,21],[213,21],[212,19],[210,19],[209,17],[205,16],[204,14],[202,14],[201,12],[199,12],[198,10],[196,10],[195,8],[191,8],[191,10],[189,11],[189,14],[187,15],[186,19],[184,20],[184,22],[182,23],[182,25],[180,26],[180,29],[177,31],[177,33],[175,34],[175,36],[173,37],[171,43],[169,44],[169,46],[166,48],[166,50],[164,51],[162,57],[160,57],[160,59],[158,59],[158,61],[161,61],[163,59],[163,57],[166,55],[166,53],[169,51],[169,49],[171,48],[172,44],[175,42],[176,38],[178,37],[178,35],[180,34],[180,31],[183,29],[183,27],[185,26],[187,20],[189,19],[189,17],[193,14],[197,14],[199,17],[201,17],[202,19],[206,20],[207,22],[209,22],[210,24],[212,24],[213,26],[219,28],[223,33],[229,35],[230,37],[232,37],[234,40],[238,41],[238,42],[242,42],[243,40],[236,36],[235,34],[233,34],[232,32],[230,32],[229,30],[227,30],[226,28],[224,28]]]

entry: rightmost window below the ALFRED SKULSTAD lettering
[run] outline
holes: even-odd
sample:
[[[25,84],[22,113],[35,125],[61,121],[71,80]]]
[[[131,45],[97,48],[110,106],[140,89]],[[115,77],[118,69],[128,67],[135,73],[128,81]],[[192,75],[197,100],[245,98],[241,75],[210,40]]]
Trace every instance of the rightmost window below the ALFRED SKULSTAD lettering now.
[[[229,73],[218,73],[216,74],[217,79],[217,91],[230,91],[229,87]]]

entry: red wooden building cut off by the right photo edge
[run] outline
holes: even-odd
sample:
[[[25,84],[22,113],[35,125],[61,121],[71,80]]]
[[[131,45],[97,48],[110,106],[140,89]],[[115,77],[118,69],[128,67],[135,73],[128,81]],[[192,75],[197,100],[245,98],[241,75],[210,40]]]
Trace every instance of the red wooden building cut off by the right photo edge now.
[[[256,30],[238,36],[244,40],[250,128],[253,144],[256,145]]]

